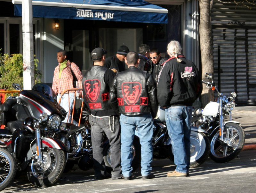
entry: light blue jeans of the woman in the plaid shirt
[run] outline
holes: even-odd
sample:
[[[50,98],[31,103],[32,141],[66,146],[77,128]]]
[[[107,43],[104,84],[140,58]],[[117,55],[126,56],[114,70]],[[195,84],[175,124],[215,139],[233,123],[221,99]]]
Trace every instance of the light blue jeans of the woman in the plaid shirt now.
[[[69,95],[69,106],[68,106],[68,95]],[[67,111],[66,118],[62,122],[71,122],[74,96],[75,96],[75,93],[69,93],[69,94],[65,93],[62,95],[60,100],[60,94],[57,95],[57,101],[59,102],[60,100],[60,106],[63,107],[65,111]]]

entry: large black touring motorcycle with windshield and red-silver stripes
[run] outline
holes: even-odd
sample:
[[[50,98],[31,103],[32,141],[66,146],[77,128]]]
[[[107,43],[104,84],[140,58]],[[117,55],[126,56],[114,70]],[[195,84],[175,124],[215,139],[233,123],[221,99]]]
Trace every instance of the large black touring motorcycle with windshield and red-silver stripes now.
[[[20,85],[13,84],[16,90]],[[17,170],[26,172],[36,187],[57,182],[64,171],[68,148],[54,133],[67,112],[57,103],[51,87],[36,84],[0,105],[0,140],[13,155]]]

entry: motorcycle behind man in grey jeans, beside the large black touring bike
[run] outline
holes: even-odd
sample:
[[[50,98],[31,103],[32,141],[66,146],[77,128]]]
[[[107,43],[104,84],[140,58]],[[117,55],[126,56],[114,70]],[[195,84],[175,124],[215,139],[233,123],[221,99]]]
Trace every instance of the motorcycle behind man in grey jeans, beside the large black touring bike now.
[[[85,123],[83,126],[79,127],[72,123],[65,123],[64,125],[61,125],[61,128],[56,135],[57,138],[68,144],[68,161],[64,172],[70,171],[75,164],[84,171],[89,170],[93,167],[91,126],[88,121],[89,113],[85,111],[83,112],[83,118],[85,119]],[[136,143],[136,145],[138,143]],[[102,145],[103,160],[105,162],[108,173],[111,173],[112,168],[110,165],[110,145],[106,135],[104,135]],[[133,154],[133,163],[138,163],[139,160],[137,160],[137,152],[135,155],[134,145],[131,148],[131,152]],[[134,169],[136,168],[137,167],[134,166]]]

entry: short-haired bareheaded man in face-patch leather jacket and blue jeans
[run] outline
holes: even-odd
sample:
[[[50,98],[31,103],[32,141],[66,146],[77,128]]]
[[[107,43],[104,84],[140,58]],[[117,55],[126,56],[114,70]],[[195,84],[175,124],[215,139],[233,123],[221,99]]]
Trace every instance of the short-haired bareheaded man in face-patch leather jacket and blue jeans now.
[[[131,146],[135,130],[137,130],[141,145],[142,179],[150,179],[155,177],[151,173],[151,163],[153,160],[153,118],[156,117],[158,109],[156,83],[151,74],[137,68],[139,55],[136,52],[129,52],[125,63],[128,69],[116,75],[110,91],[110,105],[113,109],[119,109],[121,113],[122,174],[124,180],[132,179]],[[116,108],[117,105],[118,108]]]

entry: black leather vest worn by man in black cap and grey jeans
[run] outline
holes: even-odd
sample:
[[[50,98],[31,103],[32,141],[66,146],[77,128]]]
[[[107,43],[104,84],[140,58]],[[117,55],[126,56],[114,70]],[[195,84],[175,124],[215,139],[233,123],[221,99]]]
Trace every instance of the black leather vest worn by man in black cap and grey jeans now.
[[[91,111],[111,109],[109,105],[109,87],[104,82],[107,68],[92,66],[84,73],[82,79],[84,102]]]

